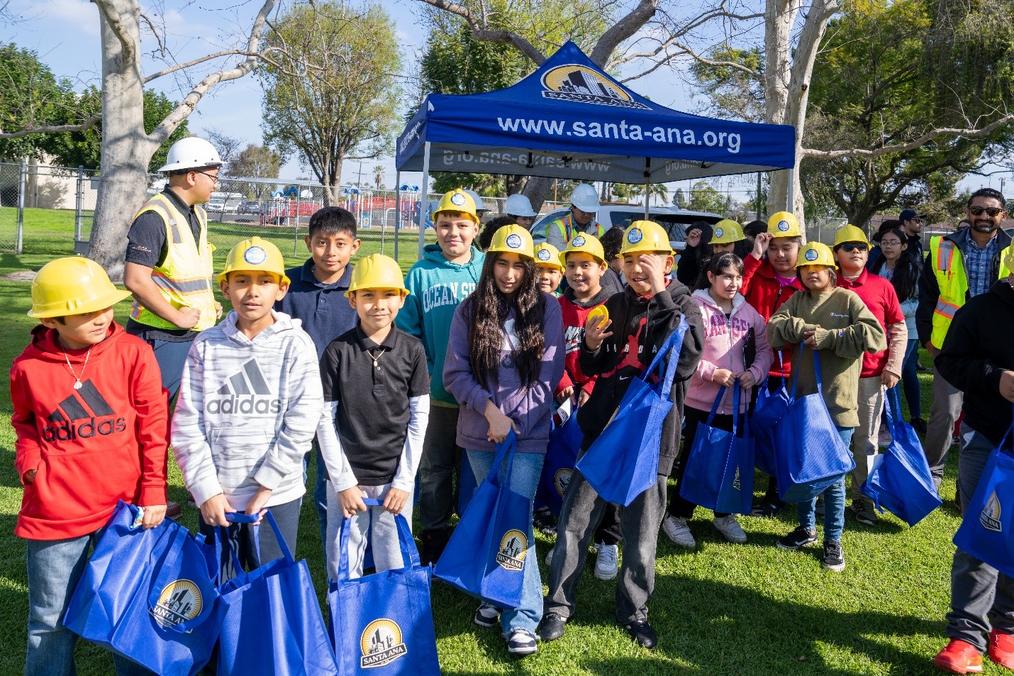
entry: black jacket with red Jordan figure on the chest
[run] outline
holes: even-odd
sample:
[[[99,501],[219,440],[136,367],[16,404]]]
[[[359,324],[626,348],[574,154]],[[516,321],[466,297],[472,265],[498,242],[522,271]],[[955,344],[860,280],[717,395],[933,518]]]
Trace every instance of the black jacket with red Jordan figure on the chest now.
[[[605,308],[612,320],[609,329],[612,335],[594,352],[581,341],[581,370],[587,376],[598,376],[591,397],[578,415],[578,424],[584,433],[582,449],[585,451],[612,418],[631,381],[644,373],[662,343],[679,326],[680,317],[684,316],[690,325],[672,382],[673,406],[662,425],[658,473],[668,475],[679,452],[686,383],[704,352],[701,309],[691,297],[690,289],[675,280],[669,282],[665,291],[650,298],[638,297],[628,286],[623,293],[609,296]],[[636,355],[632,354],[635,350]]]

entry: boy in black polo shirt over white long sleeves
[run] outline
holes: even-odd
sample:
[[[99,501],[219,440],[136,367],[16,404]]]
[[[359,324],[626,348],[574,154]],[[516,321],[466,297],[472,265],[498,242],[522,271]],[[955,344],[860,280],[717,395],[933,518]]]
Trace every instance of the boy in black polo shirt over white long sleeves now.
[[[349,572],[363,570],[367,537],[377,571],[403,565],[393,515],[412,523],[412,492],[430,410],[426,352],[394,328],[405,303],[402,270],[386,256],[359,261],[346,295],[359,323],[320,358],[324,402],[338,429],[317,438],[328,467],[328,574],[338,579],[339,527],[352,519]],[[364,497],[383,501],[367,509]]]

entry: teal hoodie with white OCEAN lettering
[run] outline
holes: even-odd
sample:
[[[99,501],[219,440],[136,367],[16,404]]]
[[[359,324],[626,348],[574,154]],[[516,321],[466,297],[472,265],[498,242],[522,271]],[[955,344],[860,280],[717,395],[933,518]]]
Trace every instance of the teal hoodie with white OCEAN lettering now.
[[[454,396],[443,386],[450,324],[458,303],[476,290],[484,259],[483,252],[473,247],[472,260],[458,265],[444,258],[439,245],[426,245],[423,259],[413,265],[405,277],[405,285],[411,293],[394,324],[423,341],[426,365],[430,370],[430,396],[448,404],[457,405]]]

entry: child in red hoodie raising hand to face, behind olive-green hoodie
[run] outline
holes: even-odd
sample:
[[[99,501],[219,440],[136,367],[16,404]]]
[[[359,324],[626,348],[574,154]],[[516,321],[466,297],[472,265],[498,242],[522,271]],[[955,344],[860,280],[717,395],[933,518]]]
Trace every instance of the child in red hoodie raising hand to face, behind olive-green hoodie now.
[[[768,219],[768,231],[753,239],[753,251],[743,259],[743,285],[740,292],[746,302],[757,311],[765,322],[779,308],[803,288],[796,277],[796,259],[803,246],[803,231],[799,220],[788,211],[779,211]],[[783,350],[782,358],[772,361],[768,382],[775,390],[782,385],[782,379],[789,376],[791,350]],[[755,399],[755,398],[754,398]],[[753,506],[754,517],[773,517],[785,509],[785,502],[778,496],[775,477],[768,482],[764,499]]]

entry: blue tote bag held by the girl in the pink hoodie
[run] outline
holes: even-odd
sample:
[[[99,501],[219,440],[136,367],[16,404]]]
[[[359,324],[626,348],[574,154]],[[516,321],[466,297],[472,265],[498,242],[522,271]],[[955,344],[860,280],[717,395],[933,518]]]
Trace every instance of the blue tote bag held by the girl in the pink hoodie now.
[[[732,389],[732,431],[712,426],[726,388],[718,391],[708,421],[698,424],[694,448],[679,482],[684,499],[713,512],[749,514],[753,501],[753,440],[739,412],[738,385]],[[743,418],[740,428],[738,420]]]

